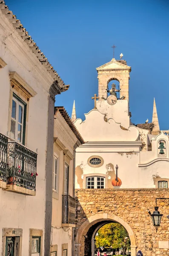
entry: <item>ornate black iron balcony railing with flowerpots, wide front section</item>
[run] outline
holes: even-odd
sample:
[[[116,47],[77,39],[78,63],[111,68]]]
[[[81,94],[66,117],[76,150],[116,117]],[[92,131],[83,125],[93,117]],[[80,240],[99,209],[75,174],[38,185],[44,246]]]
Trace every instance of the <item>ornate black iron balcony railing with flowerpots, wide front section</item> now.
[[[17,143],[8,143],[7,182],[36,190],[37,153]]]

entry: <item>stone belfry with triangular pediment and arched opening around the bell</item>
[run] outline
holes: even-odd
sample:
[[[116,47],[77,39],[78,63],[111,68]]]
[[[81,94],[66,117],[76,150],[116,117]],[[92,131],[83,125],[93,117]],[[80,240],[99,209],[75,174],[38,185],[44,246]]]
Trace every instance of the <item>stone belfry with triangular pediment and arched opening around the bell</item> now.
[[[116,60],[96,68],[98,73],[98,96],[99,100],[107,99],[107,85],[112,80],[120,83],[120,98],[124,97],[129,101],[129,79],[131,67],[127,66],[126,61]]]

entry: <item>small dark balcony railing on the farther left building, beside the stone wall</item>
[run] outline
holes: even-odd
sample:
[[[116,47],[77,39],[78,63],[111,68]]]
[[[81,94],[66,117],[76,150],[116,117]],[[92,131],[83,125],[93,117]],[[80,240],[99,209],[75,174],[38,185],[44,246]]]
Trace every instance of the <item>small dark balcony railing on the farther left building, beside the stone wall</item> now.
[[[62,223],[75,224],[75,198],[62,195]]]

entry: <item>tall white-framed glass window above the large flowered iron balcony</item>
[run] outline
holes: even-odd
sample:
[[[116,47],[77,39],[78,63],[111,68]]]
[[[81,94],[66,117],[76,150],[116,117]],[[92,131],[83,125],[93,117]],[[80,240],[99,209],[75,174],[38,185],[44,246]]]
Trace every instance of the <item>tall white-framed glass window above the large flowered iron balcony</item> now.
[[[13,93],[11,111],[11,138],[24,144],[26,128],[26,103]]]

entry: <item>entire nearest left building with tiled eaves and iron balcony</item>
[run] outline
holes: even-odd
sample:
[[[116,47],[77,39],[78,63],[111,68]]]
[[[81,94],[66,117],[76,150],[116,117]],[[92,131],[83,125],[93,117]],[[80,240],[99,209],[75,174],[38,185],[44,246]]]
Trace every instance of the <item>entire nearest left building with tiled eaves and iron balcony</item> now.
[[[54,97],[67,88],[0,1],[2,256],[50,253]]]

